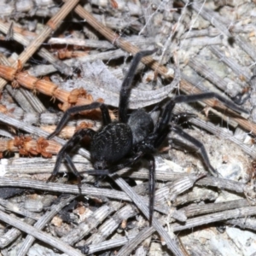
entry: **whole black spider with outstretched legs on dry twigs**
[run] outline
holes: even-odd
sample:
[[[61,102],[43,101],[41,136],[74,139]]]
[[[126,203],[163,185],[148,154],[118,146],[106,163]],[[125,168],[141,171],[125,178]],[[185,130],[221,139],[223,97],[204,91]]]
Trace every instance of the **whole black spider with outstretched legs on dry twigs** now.
[[[77,131],[73,137],[61,148],[57,155],[55,168],[49,180],[52,180],[58,173],[61,165],[61,160],[64,158],[67,165],[78,177],[79,184],[81,176],[73,165],[68,153],[76,146],[85,136],[91,137],[90,141],[90,156],[91,162],[95,171],[89,171],[90,174],[108,175],[109,173],[117,172],[125,166],[131,166],[138,159],[144,158],[148,160],[149,166],[149,224],[152,224],[152,216],[154,211],[154,152],[166,139],[170,131],[176,132],[179,136],[193,143],[201,154],[202,160],[207,166],[212,175],[217,176],[218,173],[211,166],[207,156],[207,151],[204,145],[194,137],[191,137],[183,129],[176,125],[172,109],[176,103],[180,102],[196,102],[207,98],[215,97],[223,102],[229,108],[236,112],[247,113],[242,108],[236,106],[235,103],[226,100],[214,92],[206,92],[196,95],[179,95],[172,97],[160,113],[160,117],[154,125],[149,113],[143,109],[137,109],[129,115],[128,100],[131,92],[131,82],[134,78],[138,63],[143,56],[154,54],[154,50],[145,50],[138,52],[131,62],[131,67],[125,76],[119,95],[119,120],[112,122],[108,113],[108,108],[100,102],[93,102],[90,105],[78,106],[69,108],[64,113],[60,123],[55,131],[51,133],[48,139],[59,133],[62,127],[67,123],[70,115],[79,113],[84,110],[101,108],[103,126],[100,131],[91,129],[81,129]]]

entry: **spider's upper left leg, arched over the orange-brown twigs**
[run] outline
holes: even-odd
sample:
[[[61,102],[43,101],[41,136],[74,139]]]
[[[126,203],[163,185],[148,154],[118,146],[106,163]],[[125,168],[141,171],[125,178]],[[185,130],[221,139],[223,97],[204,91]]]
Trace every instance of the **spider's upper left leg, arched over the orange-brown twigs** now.
[[[67,111],[63,114],[61,121],[57,125],[55,131],[53,131],[47,137],[47,139],[51,139],[52,137],[55,137],[55,135],[61,131],[63,126],[67,124],[67,120],[69,119],[70,115],[72,115],[73,113],[79,113],[84,110],[90,110],[90,109],[95,109],[95,108],[101,108],[101,110],[102,110],[103,125],[108,125],[109,123],[111,123],[111,119],[110,119],[110,116],[108,113],[108,108],[105,104],[103,104],[101,102],[93,102],[90,105],[76,106],[76,107],[67,109]]]

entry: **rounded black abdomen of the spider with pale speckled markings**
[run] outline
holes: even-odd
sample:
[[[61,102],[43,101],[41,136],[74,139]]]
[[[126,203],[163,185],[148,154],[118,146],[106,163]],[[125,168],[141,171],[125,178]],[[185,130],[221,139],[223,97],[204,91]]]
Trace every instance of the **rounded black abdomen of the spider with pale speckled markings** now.
[[[129,125],[111,123],[92,137],[90,155],[96,169],[104,169],[131,152],[132,134]]]

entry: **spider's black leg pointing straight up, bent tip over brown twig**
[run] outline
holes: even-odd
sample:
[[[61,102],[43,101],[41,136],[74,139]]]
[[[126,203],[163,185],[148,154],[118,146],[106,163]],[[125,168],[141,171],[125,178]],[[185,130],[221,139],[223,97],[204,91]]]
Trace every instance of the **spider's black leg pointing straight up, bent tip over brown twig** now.
[[[154,52],[156,52],[156,50],[157,49],[139,51],[131,61],[131,67],[125,76],[119,96],[119,121],[122,123],[127,123],[127,109],[128,100],[131,93],[131,82],[134,79],[137,65],[144,56],[152,55]]]

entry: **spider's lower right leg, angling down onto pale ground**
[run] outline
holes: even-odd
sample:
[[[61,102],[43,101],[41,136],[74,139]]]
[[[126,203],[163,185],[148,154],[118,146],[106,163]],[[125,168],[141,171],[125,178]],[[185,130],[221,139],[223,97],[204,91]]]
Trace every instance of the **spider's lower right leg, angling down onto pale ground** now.
[[[205,146],[203,145],[203,143],[201,143],[200,141],[195,139],[195,137],[190,136],[189,133],[183,131],[177,125],[173,125],[171,127],[171,130],[176,132],[180,137],[183,137],[184,139],[189,141],[189,143],[194,144],[195,147],[198,148],[198,152],[199,152],[199,154],[201,154],[201,158],[204,161],[205,165],[207,166],[207,169],[212,173],[213,176],[218,177],[218,172],[212,167],[210,160],[208,158],[208,155],[207,155],[207,150],[206,150]]]

